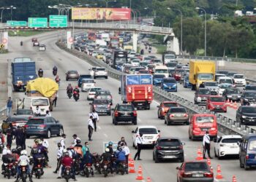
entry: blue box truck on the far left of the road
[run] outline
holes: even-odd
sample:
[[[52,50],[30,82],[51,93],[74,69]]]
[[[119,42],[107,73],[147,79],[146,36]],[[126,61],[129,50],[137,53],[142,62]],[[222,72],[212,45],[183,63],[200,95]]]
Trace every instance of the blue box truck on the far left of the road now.
[[[12,86],[15,92],[25,91],[27,82],[36,78],[36,63],[31,58],[15,58],[12,61]]]

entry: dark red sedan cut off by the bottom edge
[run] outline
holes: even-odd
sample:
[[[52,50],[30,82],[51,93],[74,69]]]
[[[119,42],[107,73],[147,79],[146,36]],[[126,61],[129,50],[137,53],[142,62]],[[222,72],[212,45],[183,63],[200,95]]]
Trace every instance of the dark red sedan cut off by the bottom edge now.
[[[206,161],[187,161],[176,170],[177,182],[214,182],[214,173]]]

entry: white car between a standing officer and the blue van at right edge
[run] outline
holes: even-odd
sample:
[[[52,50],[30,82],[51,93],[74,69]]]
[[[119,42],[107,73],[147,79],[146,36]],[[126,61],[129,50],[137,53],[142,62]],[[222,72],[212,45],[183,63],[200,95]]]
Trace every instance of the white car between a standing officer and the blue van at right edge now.
[[[221,159],[228,155],[239,155],[238,142],[242,139],[241,135],[222,135],[217,141],[214,141],[215,157]]]

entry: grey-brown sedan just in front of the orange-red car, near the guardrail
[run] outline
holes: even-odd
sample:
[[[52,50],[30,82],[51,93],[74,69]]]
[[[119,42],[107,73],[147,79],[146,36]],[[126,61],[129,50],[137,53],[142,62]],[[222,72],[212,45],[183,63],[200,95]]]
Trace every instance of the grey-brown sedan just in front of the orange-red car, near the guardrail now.
[[[187,124],[189,125],[189,113],[184,107],[171,107],[165,114],[165,124]]]

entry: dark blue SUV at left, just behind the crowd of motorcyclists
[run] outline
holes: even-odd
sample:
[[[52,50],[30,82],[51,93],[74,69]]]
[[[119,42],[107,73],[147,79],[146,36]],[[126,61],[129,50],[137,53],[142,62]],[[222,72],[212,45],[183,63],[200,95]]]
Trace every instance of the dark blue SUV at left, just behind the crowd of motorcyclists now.
[[[36,116],[25,124],[26,138],[30,136],[42,136],[50,138],[52,135],[64,134],[63,125],[53,117]]]

